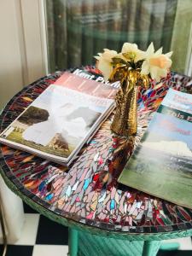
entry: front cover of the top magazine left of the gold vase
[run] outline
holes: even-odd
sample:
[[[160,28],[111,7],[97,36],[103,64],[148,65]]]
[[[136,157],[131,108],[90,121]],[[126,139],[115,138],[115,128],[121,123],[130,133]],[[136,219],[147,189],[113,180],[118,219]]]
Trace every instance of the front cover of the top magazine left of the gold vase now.
[[[45,154],[67,158],[111,102],[50,85],[1,137]]]

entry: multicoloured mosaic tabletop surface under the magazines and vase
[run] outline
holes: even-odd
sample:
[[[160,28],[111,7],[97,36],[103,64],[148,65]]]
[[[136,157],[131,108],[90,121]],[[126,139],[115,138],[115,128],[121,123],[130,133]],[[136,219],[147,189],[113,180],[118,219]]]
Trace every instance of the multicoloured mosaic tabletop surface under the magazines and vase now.
[[[94,71],[94,67],[84,69]],[[60,75],[49,75],[21,90],[3,110],[1,131]],[[138,233],[191,228],[192,210],[117,183],[168,87],[192,93],[192,79],[171,73],[160,84],[152,81],[148,90],[139,90],[136,137],[114,136],[112,113],[69,168],[1,145],[3,172],[33,201],[83,224]]]

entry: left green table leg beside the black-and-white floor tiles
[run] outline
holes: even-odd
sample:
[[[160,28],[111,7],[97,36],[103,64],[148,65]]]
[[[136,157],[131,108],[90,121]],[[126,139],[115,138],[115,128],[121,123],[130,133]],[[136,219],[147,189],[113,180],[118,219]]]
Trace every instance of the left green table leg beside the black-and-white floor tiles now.
[[[68,247],[69,247],[69,256],[78,255],[78,231],[72,228],[68,229]]]

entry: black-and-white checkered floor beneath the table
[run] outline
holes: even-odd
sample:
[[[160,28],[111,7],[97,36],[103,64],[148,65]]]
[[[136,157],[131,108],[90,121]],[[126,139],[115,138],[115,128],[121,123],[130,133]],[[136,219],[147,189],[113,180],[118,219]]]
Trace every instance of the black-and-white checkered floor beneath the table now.
[[[9,245],[6,256],[67,256],[67,228],[38,214],[26,204],[24,204],[24,209],[26,221],[20,240],[14,245]],[[181,244],[180,251],[160,251],[158,256],[191,256],[190,237],[177,239],[177,241]],[[2,255],[2,250],[3,246],[0,245],[0,255]]]

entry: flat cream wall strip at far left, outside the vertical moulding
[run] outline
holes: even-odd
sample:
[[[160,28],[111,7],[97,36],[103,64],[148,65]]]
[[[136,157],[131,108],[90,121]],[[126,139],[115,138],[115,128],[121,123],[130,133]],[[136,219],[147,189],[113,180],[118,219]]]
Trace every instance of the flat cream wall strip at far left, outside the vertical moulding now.
[[[0,1],[0,108],[23,86],[14,0]]]

